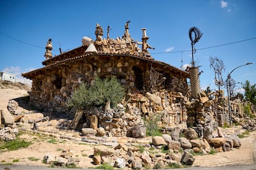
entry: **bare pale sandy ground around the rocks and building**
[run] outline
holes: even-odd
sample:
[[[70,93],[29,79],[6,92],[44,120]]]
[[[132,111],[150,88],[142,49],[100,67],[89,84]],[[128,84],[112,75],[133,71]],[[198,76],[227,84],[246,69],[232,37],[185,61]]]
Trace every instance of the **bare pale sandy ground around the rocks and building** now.
[[[0,89],[0,109],[7,106],[9,100],[19,98],[28,95],[25,90],[14,89]],[[19,108],[23,109],[23,108]],[[23,109],[24,112],[28,112]],[[233,132],[234,129],[230,129]],[[25,164],[33,166],[48,166],[43,164],[41,160],[46,153],[54,153],[59,156],[62,150],[72,150],[75,158],[80,158],[79,167],[95,167],[92,164],[93,147],[105,147],[102,145],[81,145],[77,142],[69,140],[53,140],[53,138],[36,135],[36,134],[23,134],[20,138],[32,141],[33,144],[28,148],[6,151],[0,153],[0,164],[12,163],[12,164]],[[233,149],[232,151],[216,153],[215,155],[195,156],[194,166],[223,166],[228,164],[253,164],[253,150],[256,140],[256,132],[251,132],[249,137],[242,138],[242,146],[239,149]],[[38,158],[38,161],[32,161],[29,158]],[[17,162],[13,162],[15,159],[19,159]]]

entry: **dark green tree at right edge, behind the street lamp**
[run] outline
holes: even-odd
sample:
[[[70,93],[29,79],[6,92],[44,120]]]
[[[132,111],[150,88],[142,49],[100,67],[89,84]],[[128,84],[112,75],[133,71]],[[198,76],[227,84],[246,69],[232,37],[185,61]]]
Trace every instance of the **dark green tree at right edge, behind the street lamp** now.
[[[250,85],[249,80],[245,80],[245,82],[242,83],[242,88],[245,90],[245,99],[256,104],[256,84]]]

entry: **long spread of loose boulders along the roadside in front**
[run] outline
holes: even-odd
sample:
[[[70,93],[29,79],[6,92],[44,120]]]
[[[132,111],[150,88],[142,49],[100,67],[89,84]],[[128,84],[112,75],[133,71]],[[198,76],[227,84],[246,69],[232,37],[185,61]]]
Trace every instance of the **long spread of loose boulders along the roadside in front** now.
[[[123,141],[113,148],[95,147],[93,163],[107,163],[116,168],[127,166],[133,169],[156,168],[156,166],[165,168],[169,164],[192,165],[195,161],[192,153],[209,154],[212,150],[229,151],[231,148],[241,146],[239,138],[224,136],[220,129],[216,133],[218,135],[208,134],[208,139],[198,138],[197,132],[192,128],[184,130],[176,128],[174,131],[177,134],[155,136],[150,142],[145,140],[139,144]]]

